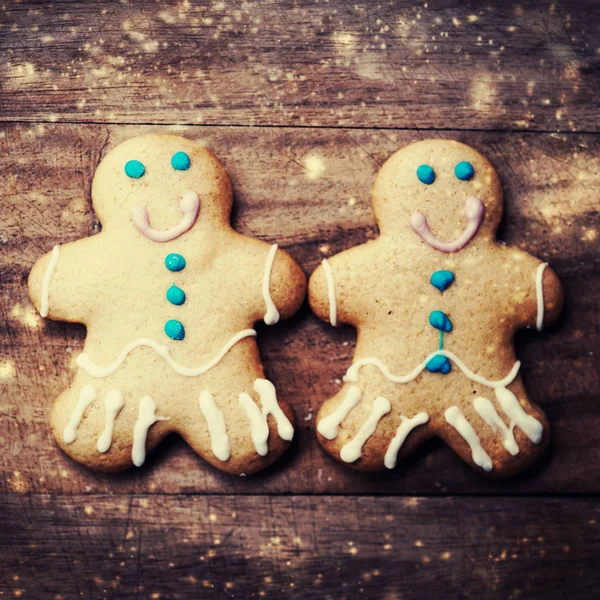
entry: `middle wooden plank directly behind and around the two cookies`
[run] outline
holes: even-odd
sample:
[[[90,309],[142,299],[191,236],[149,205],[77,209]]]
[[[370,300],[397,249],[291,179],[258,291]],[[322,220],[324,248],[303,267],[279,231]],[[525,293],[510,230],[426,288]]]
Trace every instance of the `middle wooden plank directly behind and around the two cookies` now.
[[[548,412],[553,435],[547,459],[531,473],[491,482],[435,443],[406,467],[377,476],[354,473],[325,456],[315,438],[314,416],[350,364],[354,332],[328,327],[306,308],[289,323],[259,330],[267,373],[300,424],[291,452],[274,469],[252,478],[225,476],[177,440],[167,441],[143,469],[116,477],[91,473],[67,459],[52,439],[49,410],[68,385],[84,330],[42,322],[24,283],[42,252],[97,229],[89,195],[101,153],[147,131],[178,131],[208,144],[233,179],[235,227],[277,241],[306,273],[324,256],[376,235],[369,202],[375,172],[395,149],[418,137],[373,130],[4,126],[0,489],[242,494],[600,490],[600,138],[595,135],[431,134],[460,139],[487,154],[506,187],[504,239],[550,260],[566,287],[567,309],[558,327],[518,338],[531,397]]]

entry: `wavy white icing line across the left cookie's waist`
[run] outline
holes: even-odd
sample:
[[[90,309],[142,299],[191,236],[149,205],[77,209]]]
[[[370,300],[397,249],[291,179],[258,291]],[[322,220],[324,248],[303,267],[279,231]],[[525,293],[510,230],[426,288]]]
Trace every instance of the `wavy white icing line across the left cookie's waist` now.
[[[134,340],[125,346],[119,357],[106,367],[95,364],[85,353],[80,354],[77,357],[77,366],[81,367],[88,375],[91,375],[92,377],[108,377],[109,375],[112,375],[123,364],[123,362],[125,362],[125,359],[130,352],[133,352],[133,350],[136,348],[148,346],[149,348],[152,348],[159,356],[164,358],[168,365],[179,375],[183,375],[185,377],[197,377],[198,375],[203,375],[216,366],[227,354],[227,352],[229,352],[229,350],[235,346],[235,344],[247,337],[256,337],[256,331],[254,331],[254,329],[244,329],[243,331],[236,333],[229,341],[227,341],[221,350],[219,350],[214,358],[207,363],[204,363],[200,367],[184,367],[183,365],[180,365],[171,357],[167,346],[163,346],[162,344],[159,344],[158,342],[155,342],[149,338],[138,338],[137,340]]]

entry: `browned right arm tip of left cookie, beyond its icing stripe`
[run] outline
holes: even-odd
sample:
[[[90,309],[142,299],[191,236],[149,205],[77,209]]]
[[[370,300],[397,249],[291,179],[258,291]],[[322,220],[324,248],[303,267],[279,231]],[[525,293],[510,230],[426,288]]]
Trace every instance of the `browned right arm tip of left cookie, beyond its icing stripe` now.
[[[285,250],[276,248],[271,249],[270,252],[274,253],[273,264],[268,281],[263,281],[263,291],[267,291],[268,284],[268,292],[265,294],[267,301],[270,297],[280,319],[289,319],[300,308],[306,295],[306,276]],[[267,324],[269,324],[267,315],[270,314],[275,313],[267,310],[265,315]]]

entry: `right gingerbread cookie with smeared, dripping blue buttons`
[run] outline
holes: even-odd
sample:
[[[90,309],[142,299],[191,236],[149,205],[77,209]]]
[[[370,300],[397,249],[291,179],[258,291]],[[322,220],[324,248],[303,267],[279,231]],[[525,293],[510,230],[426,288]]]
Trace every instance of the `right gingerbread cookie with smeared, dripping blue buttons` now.
[[[396,152],[372,202],[379,238],[324,260],[309,282],[320,318],[358,330],[345,383],[319,412],[320,442],[378,470],[437,436],[478,469],[521,470],[546,446],[548,423],[528,400],[513,336],[556,319],[560,282],[496,241],[501,184],[464,144]]]

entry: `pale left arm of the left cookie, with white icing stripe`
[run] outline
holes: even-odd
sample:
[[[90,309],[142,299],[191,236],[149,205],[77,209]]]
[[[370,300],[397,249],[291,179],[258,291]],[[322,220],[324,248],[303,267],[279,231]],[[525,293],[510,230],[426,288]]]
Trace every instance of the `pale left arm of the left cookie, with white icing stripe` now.
[[[85,321],[91,306],[85,300],[85,275],[90,268],[84,262],[94,256],[95,246],[94,238],[56,245],[35,263],[27,285],[42,317],[71,323]]]

